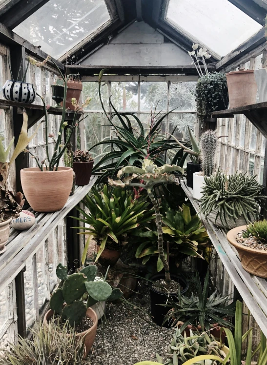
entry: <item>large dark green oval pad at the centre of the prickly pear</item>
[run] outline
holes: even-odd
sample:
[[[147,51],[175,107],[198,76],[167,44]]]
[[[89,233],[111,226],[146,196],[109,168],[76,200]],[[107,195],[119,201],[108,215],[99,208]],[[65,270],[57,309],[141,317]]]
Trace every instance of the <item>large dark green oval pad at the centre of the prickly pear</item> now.
[[[80,299],[85,293],[87,278],[82,273],[69,275],[62,286],[62,294],[66,304],[71,304]]]

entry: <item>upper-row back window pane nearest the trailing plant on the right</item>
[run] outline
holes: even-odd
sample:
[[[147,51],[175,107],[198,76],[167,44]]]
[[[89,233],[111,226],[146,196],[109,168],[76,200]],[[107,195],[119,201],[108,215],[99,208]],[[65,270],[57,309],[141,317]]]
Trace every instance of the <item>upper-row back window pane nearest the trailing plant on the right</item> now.
[[[195,111],[197,82],[171,82],[169,89],[169,110],[177,108],[175,111]]]

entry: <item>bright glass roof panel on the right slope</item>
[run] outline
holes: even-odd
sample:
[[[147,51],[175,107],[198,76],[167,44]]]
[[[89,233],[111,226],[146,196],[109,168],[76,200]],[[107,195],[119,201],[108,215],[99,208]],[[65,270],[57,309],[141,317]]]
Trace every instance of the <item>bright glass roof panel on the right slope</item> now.
[[[169,0],[166,20],[220,56],[262,28],[228,0]]]

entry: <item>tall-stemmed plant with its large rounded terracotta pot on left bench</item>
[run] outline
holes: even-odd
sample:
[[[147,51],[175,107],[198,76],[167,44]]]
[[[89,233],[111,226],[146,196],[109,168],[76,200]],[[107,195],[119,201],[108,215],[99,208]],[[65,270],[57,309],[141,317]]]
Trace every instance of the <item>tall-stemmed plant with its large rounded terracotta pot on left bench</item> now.
[[[35,65],[38,65],[39,63],[31,57],[29,58],[29,61]],[[57,67],[56,63],[55,66]],[[68,126],[69,134],[66,137],[66,140],[62,142],[64,139],[64,129],[68,125],[68,122],[65,121],[66,94],[67,81],[71,75],[68,75],[66,78],[64,78],[61,71],[60,73],[64,81],[64,100],[62,108],[62,120],[60,122],[60,128],[57,137],[48,131],[47,106],[44,98],[41,97],[45,113],[46,158],[40,163],[38,159],[32,154],[38,167],[24,168],[21,170],[21,185],[23,193],[31,207],[38,212],[55,212],[61,210],[70,195],[73,184],[72,168],[59,167],[59,164],[65,149],[69,144],[72,133],[83,119],[81,119],[79,122],[76,120],[77,112],[80,110],[80,105],[77,103],[77,100],[73,98],[72,104],[75,109],[73,121],[71,125]],[[89,102],[90,98],[87,98],[83,105],[87,105]],[[52,155],[49,154],[49,138],[52,138],[55,143]]]

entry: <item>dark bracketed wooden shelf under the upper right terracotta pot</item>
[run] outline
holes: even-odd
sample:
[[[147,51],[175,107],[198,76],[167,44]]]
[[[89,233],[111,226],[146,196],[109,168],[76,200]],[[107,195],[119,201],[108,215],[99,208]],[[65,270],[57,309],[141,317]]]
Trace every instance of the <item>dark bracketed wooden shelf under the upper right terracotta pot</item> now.
[[[232,118],[235,114],[244,114],[246,118],[267,138],[267,102],[258,102],[238,108],[212,112],[217,118]]]

